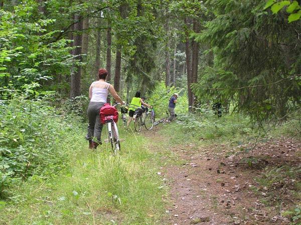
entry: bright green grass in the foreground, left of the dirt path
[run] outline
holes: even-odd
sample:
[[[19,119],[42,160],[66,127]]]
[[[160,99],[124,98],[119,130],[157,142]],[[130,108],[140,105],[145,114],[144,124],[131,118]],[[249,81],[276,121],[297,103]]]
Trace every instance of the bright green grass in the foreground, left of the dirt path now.
[[[33,176],[14,187],[15,200],[0,202],[0,224],[160,224],[167,188],[147,139],[121,130],[125,141],[113,156],[108,143],[91,151],[79,134],[58,176]]]

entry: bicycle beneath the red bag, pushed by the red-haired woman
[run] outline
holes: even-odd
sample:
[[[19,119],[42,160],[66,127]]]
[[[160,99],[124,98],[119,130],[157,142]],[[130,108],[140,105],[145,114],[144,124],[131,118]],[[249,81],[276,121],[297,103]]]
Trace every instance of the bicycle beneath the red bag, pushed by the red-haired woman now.
[[[117,103],[113,105],[113,107],[116,107],[120,103]],[[108,130],[108,140],[105,142],[110,142],[112,151],[114,154],[117,153],[117,151],[120,151],[120,139],[119,139],[119,133],[117,124],[113,120],[113,115],[105,116],[105,123],[107,124],[107,130]]]

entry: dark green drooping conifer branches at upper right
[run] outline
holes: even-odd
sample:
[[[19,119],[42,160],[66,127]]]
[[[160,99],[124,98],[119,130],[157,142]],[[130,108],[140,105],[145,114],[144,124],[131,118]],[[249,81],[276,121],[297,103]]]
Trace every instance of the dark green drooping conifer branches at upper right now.
[[[215,19],[193,37],[210,45],[215,59],[193,91],[199,99],[232,101],[254,122],[285,119],[299,108],[301,46],[293,31],[301,21],[287,25],[282,13],[262,12],[259,0],[207,3]]]

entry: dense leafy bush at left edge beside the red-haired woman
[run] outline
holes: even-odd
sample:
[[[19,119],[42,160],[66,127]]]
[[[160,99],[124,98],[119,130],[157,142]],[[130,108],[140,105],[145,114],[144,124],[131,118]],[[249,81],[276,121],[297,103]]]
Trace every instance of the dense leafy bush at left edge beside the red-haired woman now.
[[[68,143],[76,146],[78,129],[43,100],[20,96],[0,105],[0,197],[8,187],[32,175],[49,177],[66,166]],[[77,135],[75,135],[77,133]]]

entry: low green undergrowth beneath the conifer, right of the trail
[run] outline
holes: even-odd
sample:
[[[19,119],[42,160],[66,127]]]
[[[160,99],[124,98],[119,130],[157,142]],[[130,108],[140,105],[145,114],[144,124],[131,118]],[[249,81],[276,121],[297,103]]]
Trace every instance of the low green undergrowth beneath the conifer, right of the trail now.
[[[281,125],[274,125],[270,122],[259,129],[246,115],[223,114],[218,118],[209,111],[200,114],[180,114],[175,122],[169,124],[169,127],[172,128],[164,129],[162,132],[168,134],[170,142],[175,144],[219,143],[237,146],[256,142],[256,140],[265,142],[269,138],[283,135],[295,139],[301,138],[301,123],[297,115],[282,122]]]

